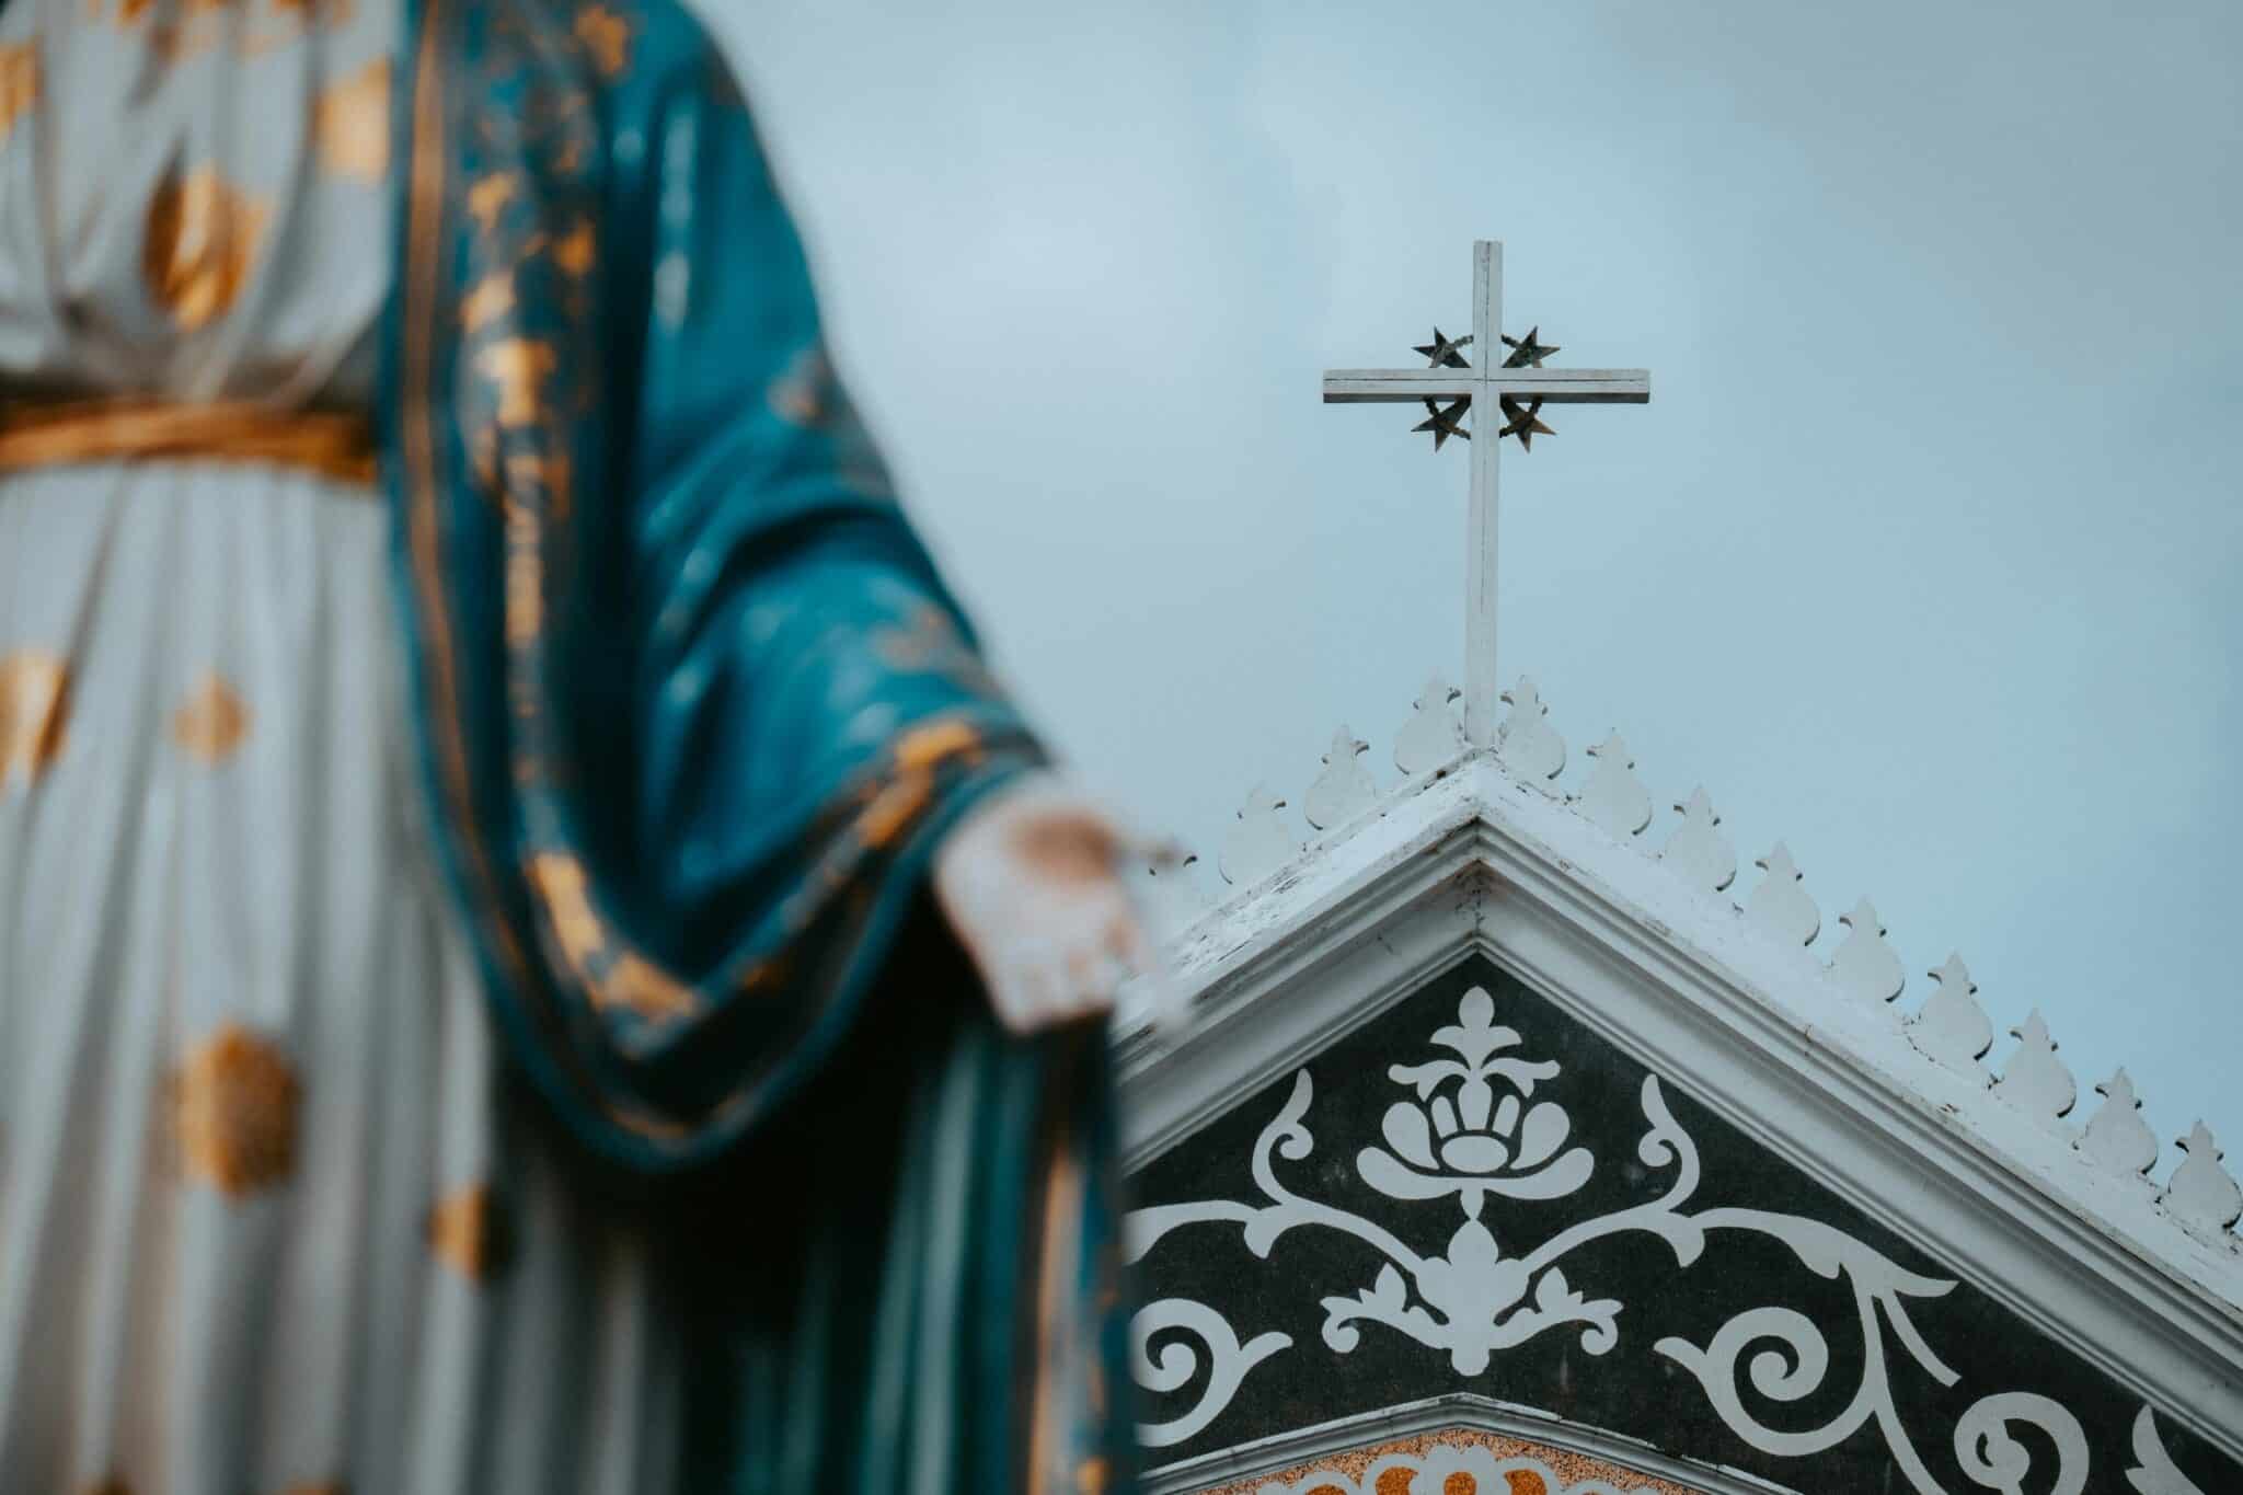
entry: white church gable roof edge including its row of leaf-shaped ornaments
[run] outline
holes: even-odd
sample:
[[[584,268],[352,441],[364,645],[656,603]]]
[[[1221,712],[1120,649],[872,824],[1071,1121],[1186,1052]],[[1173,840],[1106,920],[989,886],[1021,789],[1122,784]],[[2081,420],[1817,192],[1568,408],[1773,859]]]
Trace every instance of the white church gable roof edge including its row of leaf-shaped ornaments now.
[[[1144,870],[1178,1015],[1124,1000],[1133,1166],[1480,950],[2243,1457],[2243,1195],[2200,1123],[2162,1148],[2124,1067],[2075,1080],[2039,1013],[1996,1044],[1958,957],[1898,1002],[1866,899],[1826,921],[1781,843],[1738,876],[1705,791],[1655,816],[1617,735],[1566,776],[1530,681],[1494,749],[1451,697],[1418,702],[1386,791],[1341,731],[1308,838],[1256,789],[1211,908],[1193,867]]]

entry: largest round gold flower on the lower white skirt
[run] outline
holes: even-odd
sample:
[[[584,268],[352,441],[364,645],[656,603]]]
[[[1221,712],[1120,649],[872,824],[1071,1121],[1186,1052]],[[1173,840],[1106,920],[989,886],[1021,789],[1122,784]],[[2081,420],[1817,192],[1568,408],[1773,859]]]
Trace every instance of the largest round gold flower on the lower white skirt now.
[[[303,1087],[271,1040],[222,1022],[179,1065],[173,1101],[191,1179],[247,1199],[296,1168]]]

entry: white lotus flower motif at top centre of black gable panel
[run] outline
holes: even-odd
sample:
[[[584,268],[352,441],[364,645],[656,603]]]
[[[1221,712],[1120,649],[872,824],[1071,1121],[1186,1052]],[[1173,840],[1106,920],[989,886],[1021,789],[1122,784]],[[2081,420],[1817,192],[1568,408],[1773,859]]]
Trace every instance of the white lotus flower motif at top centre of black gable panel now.
[[[1557,1062],[1505,1058],[1519,1031],[1496,1024],[1496,1002],[1480,986],[1465,993],[1456,1018],[1433,1033],[1456,1058],[1386,1071],[1418,1098],[1386,1107],[1379,1121],[1386,1148],[1364,1148],[1355,1159],[1364,1183],[1393,1199],[1458,1195],[1474,1219],[1487,1195],[1557,1199],[1581,1188],[1595,1163],[1586,1148],[1561,1154],[1572,1130],[1566,1107],[1527,1105]],[[1496,1083],[1505,1089],[1501,1098]]]

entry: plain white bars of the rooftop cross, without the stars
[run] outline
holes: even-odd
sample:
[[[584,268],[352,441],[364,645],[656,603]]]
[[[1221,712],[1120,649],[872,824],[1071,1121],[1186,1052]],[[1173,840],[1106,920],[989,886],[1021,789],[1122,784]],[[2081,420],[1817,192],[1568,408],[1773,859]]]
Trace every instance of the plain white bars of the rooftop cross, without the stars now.
[[[1465,735],[1496,742],[1496,466],[1503,437],[1494,410],[1501,397],[1552,406],[1642,406],[1651,372],[1640,368],[1501,368],[1503,244],[1471,247],[1474,368],[1335,368],[1323,374],[1323,403],[1471,401],[1471,518],[1465,527]],[[1532,410],[1530,403],[1530,410]],[[1465,435],[1458,430],[1456,435]]]

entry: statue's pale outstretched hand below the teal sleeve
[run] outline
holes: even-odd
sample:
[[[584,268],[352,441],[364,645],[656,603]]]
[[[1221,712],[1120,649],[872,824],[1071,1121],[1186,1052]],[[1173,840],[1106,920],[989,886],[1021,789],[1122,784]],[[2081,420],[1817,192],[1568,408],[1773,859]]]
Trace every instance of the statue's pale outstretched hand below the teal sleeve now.
[[[1122,883],[1124,836],[1036,773],[976,805],[935,849],[935,901],[1014,1033],[1113,1009],[1155,953]]]

